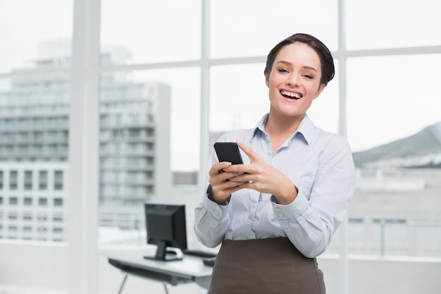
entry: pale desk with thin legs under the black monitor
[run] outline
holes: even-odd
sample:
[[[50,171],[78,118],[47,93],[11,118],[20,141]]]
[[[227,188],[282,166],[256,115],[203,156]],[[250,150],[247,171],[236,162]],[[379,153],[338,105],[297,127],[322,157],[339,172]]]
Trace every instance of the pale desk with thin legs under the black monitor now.
[[[155,251],[156,248],[102,251],[108,262],[125,274],[118,294],[122,293],[129,274],[163,283],[166,293],[167,284],[197,283],[202,288],[209,288],[213,268],[206,267],[200,257],[185,255],[184,259],[171,262],[144,259],[145,255],[153,256]]]

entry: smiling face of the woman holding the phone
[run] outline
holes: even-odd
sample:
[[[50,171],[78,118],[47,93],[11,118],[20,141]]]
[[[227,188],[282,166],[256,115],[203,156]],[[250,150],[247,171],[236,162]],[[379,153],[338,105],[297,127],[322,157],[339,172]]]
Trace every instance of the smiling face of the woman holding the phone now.
[[[321,62],[307,44],[295,42],[280,49],[266,85],[271,110],[282,116],[304,117],[325,85],[320,84]]]

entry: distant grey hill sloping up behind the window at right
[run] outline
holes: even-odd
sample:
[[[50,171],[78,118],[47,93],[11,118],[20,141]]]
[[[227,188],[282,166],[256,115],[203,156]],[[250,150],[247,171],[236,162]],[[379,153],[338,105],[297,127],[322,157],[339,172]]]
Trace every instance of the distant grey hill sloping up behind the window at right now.
[[[441,121],[409,137],[354,152],[353,156],[356,167],[441,168]]]

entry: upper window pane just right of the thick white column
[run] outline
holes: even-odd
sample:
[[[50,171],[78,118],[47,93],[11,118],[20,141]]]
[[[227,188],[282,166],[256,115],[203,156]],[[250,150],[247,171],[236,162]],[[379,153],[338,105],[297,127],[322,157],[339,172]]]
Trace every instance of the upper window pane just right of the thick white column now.
[[[101,52],[113,47],[127,53],[119,64],[199,59],[200,3],[103,0]]]

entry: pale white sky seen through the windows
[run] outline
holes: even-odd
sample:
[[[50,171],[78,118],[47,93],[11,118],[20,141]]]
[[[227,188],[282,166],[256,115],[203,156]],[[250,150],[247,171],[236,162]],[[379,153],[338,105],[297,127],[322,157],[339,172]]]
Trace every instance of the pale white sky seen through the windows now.
[[[331,51],[337,50],[337,1],[211,2],[213,58],[266,56],[294,32],[308,32]],[[418,1],[416,9],[411,0],[347,1],[347,48],[440,46],[440,2]],[[150,6],[149,1],[102,0],[101,44],[129,49],[132,63],[198,59],[199,4],[163,0]],[[0,0],[0,74],[32,66],[39,42],[69,39],[72,13],[73,1]],[[441,121],[440,67],[441,54],[349,59],[347,137],[353,150],[385,144]],[[199,69],[139,71],[133,77],[170,85],[171,168],[199,169]],[[0,90],[3,84],[0,75]],[[212,131],[251,128],[268,111],[263,63],[213,67],[210,95]],[[338,132],[338,109],[336,78],[309,115],[321,128]]]

